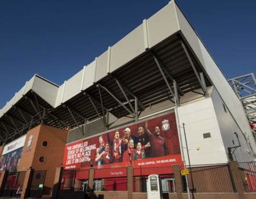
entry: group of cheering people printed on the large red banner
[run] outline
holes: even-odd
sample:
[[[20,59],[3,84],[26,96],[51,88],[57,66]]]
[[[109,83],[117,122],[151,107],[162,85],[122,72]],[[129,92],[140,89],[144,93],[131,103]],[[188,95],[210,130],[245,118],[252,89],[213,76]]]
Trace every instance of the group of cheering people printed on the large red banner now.
[[[159,126],[150,130],[145,122],[134,134],[127,127],[123,132],[116,130],[112,139],[108,133],[108,141],[103,136],[98,137],[95,162],[97,165],[131,162],[168,154],[166,138],[161,136]]]

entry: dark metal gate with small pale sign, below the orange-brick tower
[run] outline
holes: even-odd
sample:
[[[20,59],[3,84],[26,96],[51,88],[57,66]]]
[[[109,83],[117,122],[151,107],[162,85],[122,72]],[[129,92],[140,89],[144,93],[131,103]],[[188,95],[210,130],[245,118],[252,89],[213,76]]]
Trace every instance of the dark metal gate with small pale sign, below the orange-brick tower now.
[[[42,197],[43,194],[49,194],[49,188],[44,186],[46,171],[33,171],[31,175],[30,191],[28,197]]]

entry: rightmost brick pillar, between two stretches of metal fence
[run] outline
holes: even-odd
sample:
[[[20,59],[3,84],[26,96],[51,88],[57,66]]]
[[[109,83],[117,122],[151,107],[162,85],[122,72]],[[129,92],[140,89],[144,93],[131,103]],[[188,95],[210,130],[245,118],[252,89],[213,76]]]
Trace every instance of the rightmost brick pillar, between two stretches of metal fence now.
[[[245,198],[245,189],[243,187],[242,177],[238,169],[238,163],[235,161],[229,162],[230,174],[233,177],[234,187],[238,193],[238,197]]]

